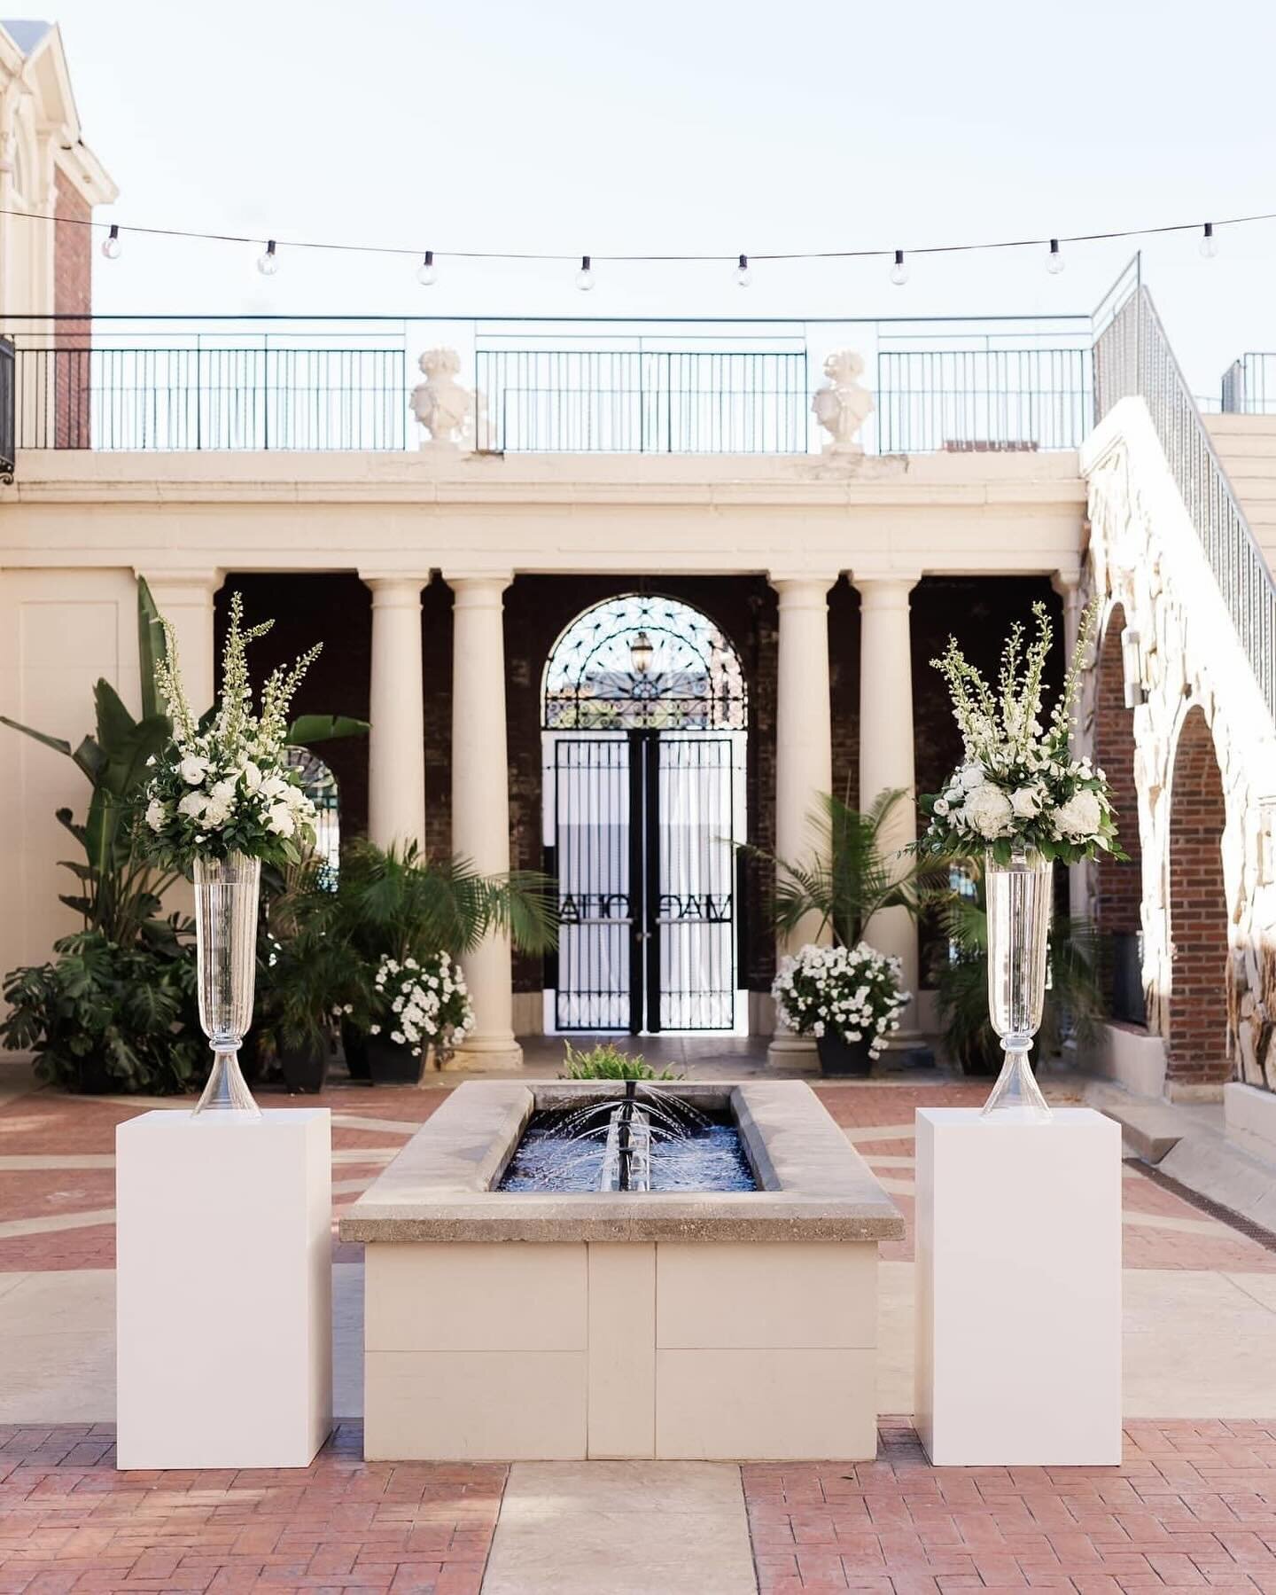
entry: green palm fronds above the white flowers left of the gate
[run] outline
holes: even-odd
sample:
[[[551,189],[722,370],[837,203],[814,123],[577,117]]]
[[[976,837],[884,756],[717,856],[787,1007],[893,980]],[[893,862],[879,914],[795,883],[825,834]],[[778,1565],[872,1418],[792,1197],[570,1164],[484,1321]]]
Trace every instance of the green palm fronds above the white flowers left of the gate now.
[[[553,882],[538,871],[482,876],[467,858],[426,858],[415,842],[354,842],[341,855],[338,927],[373,968],[383,957],[472,952],[493,930],[523,952],[557,941]]]

